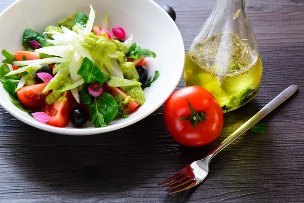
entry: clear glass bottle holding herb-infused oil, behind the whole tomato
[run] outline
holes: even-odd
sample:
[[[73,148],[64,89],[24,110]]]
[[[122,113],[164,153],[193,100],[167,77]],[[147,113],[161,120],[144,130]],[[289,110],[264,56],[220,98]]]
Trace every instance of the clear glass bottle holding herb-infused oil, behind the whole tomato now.
[[[246,0],[217,0],[186,54],[185,85],[207,88],[225,113],[256,96],[261,76]]]

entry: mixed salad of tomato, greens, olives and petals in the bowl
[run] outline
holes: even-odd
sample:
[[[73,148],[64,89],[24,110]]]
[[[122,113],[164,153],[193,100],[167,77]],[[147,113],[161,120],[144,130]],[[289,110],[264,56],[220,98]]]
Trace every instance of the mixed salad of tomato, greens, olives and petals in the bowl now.
[[[95,11],[78,12],[39,33],[25,29],[15,54],[2,51],[0,81],[11,102],[37,122],[55,127],[72,123],[106,127],[127,118],[145,103],[148,78],[145,58],[157,55],[126,37],[124,28],[109,27],[107,13],[95,25]]]

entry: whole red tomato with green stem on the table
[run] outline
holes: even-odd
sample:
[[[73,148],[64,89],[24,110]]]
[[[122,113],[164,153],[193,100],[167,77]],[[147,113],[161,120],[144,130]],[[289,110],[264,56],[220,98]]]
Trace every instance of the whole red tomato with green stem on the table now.
[[[217,99],[199,86],[173,93],[166,102],[164,117],[174,140],[190,147],[211,143],[223,126],[223,113]]]

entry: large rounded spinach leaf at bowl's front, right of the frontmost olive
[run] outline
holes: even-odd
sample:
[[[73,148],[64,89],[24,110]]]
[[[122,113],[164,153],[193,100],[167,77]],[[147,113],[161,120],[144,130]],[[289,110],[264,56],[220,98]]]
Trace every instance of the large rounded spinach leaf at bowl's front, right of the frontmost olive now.
[[[89,105],[89,112],[95,127],[105,127],[117,115],[118,106],[110,94],[102,92]]]

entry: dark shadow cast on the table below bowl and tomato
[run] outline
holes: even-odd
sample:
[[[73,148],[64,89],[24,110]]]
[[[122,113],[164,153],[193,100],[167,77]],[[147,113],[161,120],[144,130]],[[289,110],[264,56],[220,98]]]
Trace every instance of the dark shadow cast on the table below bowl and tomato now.
[[[146,188],[163,192],[166,197],[168,193],[157,183],[208,154],[257,112],[259,107],[252,105],[225,114],[223,133],[215,142],[199,148],[175,143],[167,132],[162,114],[97,136],[60,136],[30,128],[31,132],[24,134],[26,139],[22,140],[22,146],[12,148],[26,154],[17,161],[23,162],[20,173],[29,182],[38,182],[44,187],[75,195],[142,192]],[[189,198],[195,190],[183,193],[183,199]],[[177,194],[176,198],[179,196]]]

